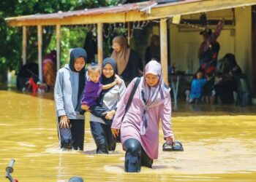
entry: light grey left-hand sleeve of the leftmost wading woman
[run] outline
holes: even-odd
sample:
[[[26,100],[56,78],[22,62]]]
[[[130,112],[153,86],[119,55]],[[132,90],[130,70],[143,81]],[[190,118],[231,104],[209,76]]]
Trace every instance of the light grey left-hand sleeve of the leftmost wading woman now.
[[[66,115],[64,110],[64,94],[63,94],[63,72],[60,70],[56,76],[56,82],[54,87],[54,100],[56,103],[56,113],[57,116]]]

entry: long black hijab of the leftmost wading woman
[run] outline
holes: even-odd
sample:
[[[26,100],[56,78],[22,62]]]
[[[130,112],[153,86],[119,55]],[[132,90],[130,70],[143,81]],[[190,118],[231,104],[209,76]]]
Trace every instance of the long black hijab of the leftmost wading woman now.
[[[86,61],[87,59],[87,53],[86,50],[83,50],[83,48],[74,48],[71,52],[70,52],[70,60],[69,60],[69,68],[72,71],[75,71],[75,59],[76,58],[84,58],[84,60]],[[85,86],[85,82],[86,82],[86,71],[85,68],[83,67],[83,69],[81,69],[80,71],[75,71],[79,73],[79,84],[78,84],[78,103],[80,103],[80,98],[81,95],[83,93],[83,89]]]

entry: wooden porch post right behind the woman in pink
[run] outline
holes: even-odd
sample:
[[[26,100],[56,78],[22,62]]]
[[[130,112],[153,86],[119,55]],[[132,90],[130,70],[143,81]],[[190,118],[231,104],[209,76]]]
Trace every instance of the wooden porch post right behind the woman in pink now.
[[[167,19],[160,21],[160,45],[161,45],[161,64],[163,79],[165,84],[168,84],[168,64],[167,64]]]

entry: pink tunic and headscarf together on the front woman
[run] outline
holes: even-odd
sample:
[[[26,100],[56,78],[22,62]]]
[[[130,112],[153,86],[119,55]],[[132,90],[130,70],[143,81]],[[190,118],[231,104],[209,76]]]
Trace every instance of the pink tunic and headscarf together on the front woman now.
[[[148,73],[159,75],[159,82],[156,87],[148,87],[146,84],[145,76]],[[143,75],[132,103],[124,116],[124,110],[136,79],[133,79],[127,87],[124,97],[120,100],[111,127],[121,129],[123,149],[125,149],[124,143],[132,138],[140,142],[148,157],[157,159],[159,119],[162,120],[162,130],[165,138],[173,136],[170,127],[170,90],[164,86],[162,68],[157,61],[150,61],[145,66]],[[123,116],[124,119],[121,120]]]

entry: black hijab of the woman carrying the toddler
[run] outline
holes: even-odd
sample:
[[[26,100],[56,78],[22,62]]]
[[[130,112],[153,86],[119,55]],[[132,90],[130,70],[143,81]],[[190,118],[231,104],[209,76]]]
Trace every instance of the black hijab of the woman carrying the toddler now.
[[[110,64],[113,67],[114,74],[110,78],[107,78],[103,74],[103,68],[106,66],[106,64]],[[115,81],[116,77],[116,61],[113,60],[113,58],[105,58],[102,62],[102,84],[110,84]],[[110,88],[111,89],[111,88]],[[108,89],[108,90],[110,90]],[[102,90],[102,95],[104,95],[108,90]]]

